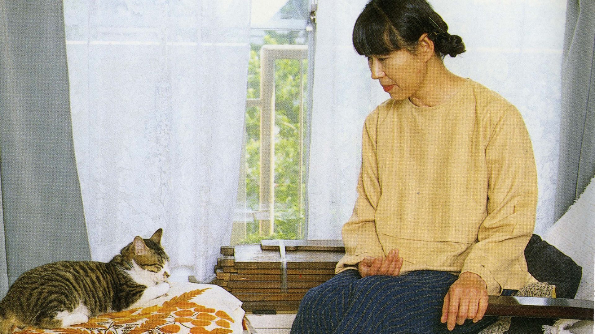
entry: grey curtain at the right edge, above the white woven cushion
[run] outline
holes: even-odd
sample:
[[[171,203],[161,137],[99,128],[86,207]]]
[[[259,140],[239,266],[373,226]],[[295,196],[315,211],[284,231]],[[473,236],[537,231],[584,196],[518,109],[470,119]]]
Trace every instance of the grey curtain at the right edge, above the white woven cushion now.
[[[562,118],[555,218],[595,175],[595,0],[569,0],[562,56]]]

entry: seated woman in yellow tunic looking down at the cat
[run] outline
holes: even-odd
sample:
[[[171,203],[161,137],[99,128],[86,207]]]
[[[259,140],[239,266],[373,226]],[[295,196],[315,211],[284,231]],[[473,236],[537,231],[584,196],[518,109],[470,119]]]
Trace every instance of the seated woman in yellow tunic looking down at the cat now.
[[[488,295],[536,280],[536,168],[517,109],[444,67],[465,51],[425,0],[371,0],[356,51],[390,99],[368,115],[337,275],[292,333],[478,333]]]

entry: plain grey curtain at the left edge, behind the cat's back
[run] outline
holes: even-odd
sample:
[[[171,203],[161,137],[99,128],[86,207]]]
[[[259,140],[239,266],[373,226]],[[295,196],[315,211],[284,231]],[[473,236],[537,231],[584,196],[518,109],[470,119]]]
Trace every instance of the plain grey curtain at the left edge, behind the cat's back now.
[[[62,11],[61,0],[0,0],[2,297],[33,267],[90,260]]]

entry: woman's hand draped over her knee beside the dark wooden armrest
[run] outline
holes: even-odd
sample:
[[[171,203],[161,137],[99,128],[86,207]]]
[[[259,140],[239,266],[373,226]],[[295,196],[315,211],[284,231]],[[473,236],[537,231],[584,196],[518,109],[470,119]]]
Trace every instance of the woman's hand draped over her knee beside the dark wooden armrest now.
[[[463,324],[466,319],[478,322],[487,309],[486,282],[475,273],[464,272],[450,286],[444,297],[440,322],[446,323],[448,330],[456,324]]]

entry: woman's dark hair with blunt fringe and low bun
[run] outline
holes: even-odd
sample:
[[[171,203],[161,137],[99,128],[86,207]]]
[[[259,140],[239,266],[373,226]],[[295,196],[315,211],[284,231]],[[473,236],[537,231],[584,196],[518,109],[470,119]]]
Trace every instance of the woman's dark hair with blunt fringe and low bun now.
[[[427,33],[436,55],[465,52],[460,36],[451,35],[444,20],[425,0],[371,0],[353,27],[353,46],[360,55],[387,55],[402,48],[413,52]]]

